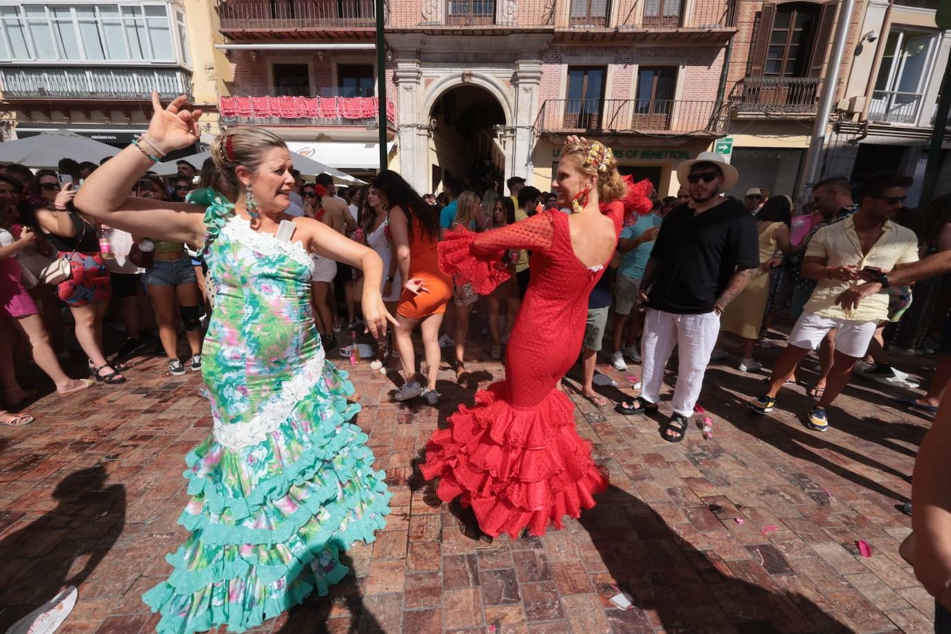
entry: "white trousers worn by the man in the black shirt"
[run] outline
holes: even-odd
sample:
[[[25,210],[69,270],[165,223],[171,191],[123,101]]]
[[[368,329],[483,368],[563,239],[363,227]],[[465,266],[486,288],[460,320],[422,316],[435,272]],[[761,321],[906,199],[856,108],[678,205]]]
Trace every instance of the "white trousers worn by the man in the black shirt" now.
[[[656,403],[664,383],[664,368],[678,348],[677,383],[670,405],[674,413],[689,417],[700,397],[710,353],[720,334],[720,317],[712,312],[703,315],[676,315],[648,309],[641,337],[641,396]]]

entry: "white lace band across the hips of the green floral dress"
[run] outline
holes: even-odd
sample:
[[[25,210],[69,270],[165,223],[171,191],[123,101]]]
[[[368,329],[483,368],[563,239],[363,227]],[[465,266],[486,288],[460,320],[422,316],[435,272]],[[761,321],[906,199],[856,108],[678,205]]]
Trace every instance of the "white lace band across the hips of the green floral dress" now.
[[[281,392],[261,408],[261,412],[244,423],[226,424],[214,416],[215,440],[228,449],[241,450],[257,445],[267,439],[297,407],[297,404],[314,392],[323,377],[324,353],[321,348],[316,356],[304,363],[301,371],[284,381]],[[212,408],[212,413],[215,413]]]

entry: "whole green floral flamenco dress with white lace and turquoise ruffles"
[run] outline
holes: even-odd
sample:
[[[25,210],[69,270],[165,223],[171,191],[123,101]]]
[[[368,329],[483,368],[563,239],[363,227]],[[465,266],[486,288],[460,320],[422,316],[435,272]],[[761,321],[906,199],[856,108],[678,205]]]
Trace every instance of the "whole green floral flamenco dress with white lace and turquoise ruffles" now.
[[[192,498],[179,524],[191,534],[143,599],[163,614],[159,632],[241,632],[340,581],[340,550],[373,541],[390,493],[348,422],[353,386],[324,359],[311,257],[253,231],[216,192],[190,200],[207,205],[215,299],[202,365],[215,431],[185,456]]]

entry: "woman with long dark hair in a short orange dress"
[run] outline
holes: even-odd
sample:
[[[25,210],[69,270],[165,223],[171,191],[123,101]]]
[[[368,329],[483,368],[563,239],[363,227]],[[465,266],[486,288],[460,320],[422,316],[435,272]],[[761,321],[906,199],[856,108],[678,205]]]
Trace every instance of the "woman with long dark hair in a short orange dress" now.
[[[398,389],[398,401],[423,396],[430,405],[439,402],[436,377],[442,360],[439,326],[446,304],[453,297],[453,279],[439,270],[439,216],[435,207],[396,172],[383,170],[372,183],[380,203],[389,208],[390,235],[396,248],[403,292],[397,305],[396,339],[406,382]],[[426,356],[426,387],[416,380],[413,330],[419,325]]]

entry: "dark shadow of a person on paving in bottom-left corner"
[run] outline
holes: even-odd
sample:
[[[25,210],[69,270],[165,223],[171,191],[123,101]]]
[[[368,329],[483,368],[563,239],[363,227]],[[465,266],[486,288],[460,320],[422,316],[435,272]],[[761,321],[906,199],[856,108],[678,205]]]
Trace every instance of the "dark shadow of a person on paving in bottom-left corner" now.
[[[70,473],[52,492],[54,509],[0,542],[0,560],[10,574],[0,583],[0,605],[6,608],[0,629],[63,587],[82,584],[112,548],[126,524],[126,487],[106,487],[106,479],[102,465]],[[11,566],[11,560],[22,566]]]

